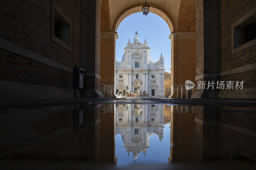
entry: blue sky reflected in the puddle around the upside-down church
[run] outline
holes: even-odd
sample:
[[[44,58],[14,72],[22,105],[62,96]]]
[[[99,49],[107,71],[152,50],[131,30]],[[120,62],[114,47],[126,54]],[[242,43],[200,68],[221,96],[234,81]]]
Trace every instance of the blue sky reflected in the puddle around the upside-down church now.
[[[137,162],[139,163],[168,163],[167,158],[170,157],[170,134],[171,129],[169,128],[170,123],[164,125],[164,139],[160,143],[158,139],[158,135],[151,135],[149,138],[149,148],[147,148],[147,152],[144,154],[140,152],[138,154]],[[134,164],[134,158],[132,156],[132,152],[129,155],[126,152],[126,148],[124,148],[124,142],[122,140],[121,134],[116,135],[116,157],[117,166],[126,166],[129,164]]]

